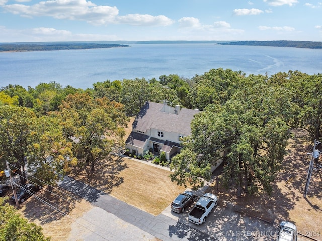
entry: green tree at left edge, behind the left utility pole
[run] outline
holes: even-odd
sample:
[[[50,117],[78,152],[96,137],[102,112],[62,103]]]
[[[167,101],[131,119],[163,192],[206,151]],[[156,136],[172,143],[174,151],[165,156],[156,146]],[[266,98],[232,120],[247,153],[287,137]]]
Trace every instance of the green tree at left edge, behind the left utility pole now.
[[[8,105],[0,107],[0,116],[0,158],[3,164],[7,160],[16,167],[22,168],[23,173],[20,169],[18,172],[21,183],[24,184],[28,139],[36,116],[31,109]]]

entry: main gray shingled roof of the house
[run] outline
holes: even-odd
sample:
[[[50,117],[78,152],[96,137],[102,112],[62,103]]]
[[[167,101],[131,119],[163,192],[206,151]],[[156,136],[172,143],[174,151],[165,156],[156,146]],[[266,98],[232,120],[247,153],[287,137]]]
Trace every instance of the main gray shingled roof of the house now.
[[[191,134],[190,123],[199,110],[182,108],[179,114],[162,112],[164,104],[145,102],[137,115],[133,129],[146,132],[150,128],[160,131],[176,132],[185,136]]]

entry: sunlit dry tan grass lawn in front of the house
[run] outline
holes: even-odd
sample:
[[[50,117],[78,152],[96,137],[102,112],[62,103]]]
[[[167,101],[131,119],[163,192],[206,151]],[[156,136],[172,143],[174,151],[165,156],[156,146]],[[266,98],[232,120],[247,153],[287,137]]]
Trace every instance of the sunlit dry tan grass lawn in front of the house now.
[[[170,171],[151,167],[125,158],[127,167],[119,175],[123,183],[112,189],[111,195],[153,215],[160,214],[185,190],[169,178]]]

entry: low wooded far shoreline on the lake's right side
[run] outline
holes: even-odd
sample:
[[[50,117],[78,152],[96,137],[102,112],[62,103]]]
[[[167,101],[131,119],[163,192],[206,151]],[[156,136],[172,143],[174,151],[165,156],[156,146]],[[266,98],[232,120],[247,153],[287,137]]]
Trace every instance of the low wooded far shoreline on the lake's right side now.
[[[294,48],[308,48],[308,49],[322,49],[322,42],[313,41],[235,41],[218,43],[222,45],[251,45],[251,46],[272,46],[272,47],[294,47]]]

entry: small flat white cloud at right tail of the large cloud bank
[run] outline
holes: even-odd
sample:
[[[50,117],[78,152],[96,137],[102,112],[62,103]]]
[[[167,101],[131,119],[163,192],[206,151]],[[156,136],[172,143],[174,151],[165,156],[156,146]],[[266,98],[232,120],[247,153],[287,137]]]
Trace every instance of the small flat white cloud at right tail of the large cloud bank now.
[[[128,14],[118,16],[117,21],[121,24],[167,26],[173,24],[173,20],[164,15],[152,16],[149,14]]]

